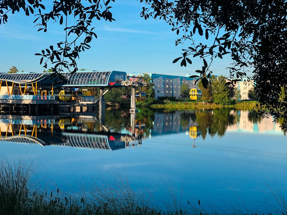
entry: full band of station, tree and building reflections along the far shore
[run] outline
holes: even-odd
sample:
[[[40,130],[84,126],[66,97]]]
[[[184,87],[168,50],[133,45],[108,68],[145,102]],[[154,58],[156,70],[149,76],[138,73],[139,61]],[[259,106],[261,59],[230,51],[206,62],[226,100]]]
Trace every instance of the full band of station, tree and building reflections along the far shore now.
[[[0,129],[2,141],[107,150],[140,146],[147,137],[181,132],[193,139],[193,147],[196,138],[222,137],[226,132],[283,134],[280,124],[271,116],[257,119],[250,111],[231,109],[174,112],[143,109],[137,114],[110,110],[97,116],[50,118],[2,115]]]

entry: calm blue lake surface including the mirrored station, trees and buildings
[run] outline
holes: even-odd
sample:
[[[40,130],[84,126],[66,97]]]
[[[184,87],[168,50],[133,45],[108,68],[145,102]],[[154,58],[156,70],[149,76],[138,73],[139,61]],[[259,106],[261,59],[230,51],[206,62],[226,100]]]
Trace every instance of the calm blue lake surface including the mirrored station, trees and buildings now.
[[[38,160],[40,180],[60,189],[126,177],[132,187],[150,189],[162,207],[176,196],[178,204],[200,200],[207,210],[264,212],[280,208],[272,191],[286,197],[287,138],[272,117],[231,109],[100,115],[2,116],[1,157]]]

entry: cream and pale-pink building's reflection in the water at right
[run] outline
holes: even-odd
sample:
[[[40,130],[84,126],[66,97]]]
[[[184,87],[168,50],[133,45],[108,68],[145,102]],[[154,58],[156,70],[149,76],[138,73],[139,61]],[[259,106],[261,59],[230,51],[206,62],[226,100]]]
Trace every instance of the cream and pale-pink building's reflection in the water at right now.
[[[230,114],[236,114],[234,111],[231,111]],[[240,115],[239,122],[237,124],[227,126],[227,131],[239,131],[239,132],[280,132],[279,123],[275,123],[271,115],[265,118],[257,119],[255,116],[252,116],[252,113],[248,110],[241,110],[237,114]]]

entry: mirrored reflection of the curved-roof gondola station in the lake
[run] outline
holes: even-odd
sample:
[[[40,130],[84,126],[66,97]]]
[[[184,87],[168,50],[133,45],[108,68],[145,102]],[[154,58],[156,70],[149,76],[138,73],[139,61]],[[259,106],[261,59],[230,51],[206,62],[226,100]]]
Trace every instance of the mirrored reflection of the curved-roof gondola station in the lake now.
[[[105,150],[129,146],[129,139],[126,138],[128,135],[110,132],[100,123],[102,119],[95,116],[57,119],[14,117],[18,119],[5,118],[5,115],[0,117],[0,141]],[[132,146],[135,145],[134,140],[132,138]],[[141,144],[141,140],[136,140]]]

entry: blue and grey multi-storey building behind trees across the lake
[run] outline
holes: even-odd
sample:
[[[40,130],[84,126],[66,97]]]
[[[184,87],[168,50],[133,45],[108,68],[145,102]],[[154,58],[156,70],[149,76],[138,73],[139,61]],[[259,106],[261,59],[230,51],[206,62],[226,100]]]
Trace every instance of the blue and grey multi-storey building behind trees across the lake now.
[[[181,95],[181,85],[187,84],[189,89],[198,88],[195,81],[197,79],[189,78],[189,74],[184,76],[176,75],[162,75],[156,73],[150,73],[151,82],[154,83],[155,97],[176,97],[178,99]]]

